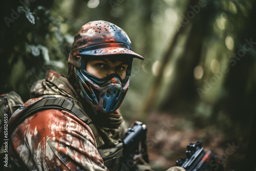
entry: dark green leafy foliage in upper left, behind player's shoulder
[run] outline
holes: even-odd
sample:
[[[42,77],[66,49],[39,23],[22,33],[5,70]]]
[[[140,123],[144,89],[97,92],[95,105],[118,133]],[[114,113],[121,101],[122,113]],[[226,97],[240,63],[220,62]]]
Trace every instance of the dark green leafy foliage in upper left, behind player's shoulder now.
[[[3,4],[1,93],[14,90],[27,100],[32,83],[45,78],[48,69],[67,71],[65,49],[69,44],[60,32],[59,20],[52,15],[51,7],[56,6],[52,1]]]

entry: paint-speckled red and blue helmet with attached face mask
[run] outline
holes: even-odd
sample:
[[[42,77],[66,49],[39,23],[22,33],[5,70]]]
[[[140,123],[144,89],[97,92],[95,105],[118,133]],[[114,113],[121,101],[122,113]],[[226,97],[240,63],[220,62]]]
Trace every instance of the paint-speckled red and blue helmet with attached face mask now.
[[[122,80],[116,73],[98,78],[86,71],[86,61],[90,59],[112,58],[130,59],[126,76]],[[79,84],[79,95],[100,113],[116,111],[129,88],[132,59],[144,58],[132,51],[127,34],[116,25],[98,20],[82,26],[75,35],[69,55],[69,63],[75,67]]]

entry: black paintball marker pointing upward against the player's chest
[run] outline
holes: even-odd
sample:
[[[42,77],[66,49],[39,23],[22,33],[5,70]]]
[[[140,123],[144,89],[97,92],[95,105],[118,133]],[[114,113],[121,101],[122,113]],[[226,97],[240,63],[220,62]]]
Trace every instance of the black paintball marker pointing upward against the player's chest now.
[[[123,138],[123,162],[121,170],[135,170],[134,156],[141,154],[145,162],[149,162],[146,146],[146,125],[136,121],[129,127]]]

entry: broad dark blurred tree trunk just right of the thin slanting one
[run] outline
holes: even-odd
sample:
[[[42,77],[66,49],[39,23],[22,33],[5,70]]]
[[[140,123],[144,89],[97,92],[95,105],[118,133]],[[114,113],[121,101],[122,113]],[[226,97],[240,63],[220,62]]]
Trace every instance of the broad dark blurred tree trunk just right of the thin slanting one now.
[[[198,2],[196,1],[189,6],[195,6],[195,3]],[[198,14],[195,14],[195,18],[190,20],[191,29],[187,35],[185,48],[177,60],[175,79],[160,106],[161,110],[173,110],[177,107],[185,109],[181,105],[193,103],[198,99],[194,69],[200,61],[204,39],[211,34],[211,24],[212,19],[215,19],[215,14],[214,6],[209,2],[209,4],[200,9]]]

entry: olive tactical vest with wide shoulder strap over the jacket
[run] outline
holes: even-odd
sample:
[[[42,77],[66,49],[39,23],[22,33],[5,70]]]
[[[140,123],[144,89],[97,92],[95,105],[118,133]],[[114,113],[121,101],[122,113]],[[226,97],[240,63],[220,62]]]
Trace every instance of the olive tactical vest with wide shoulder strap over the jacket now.
[[[77,104],[75,99],[64,96],[43,96],[41,100],[35,102],[24,111],[25,114],[23,117],[11,127],[10,131],[12,132],[18,124],[22,123],[29,116],[47,109],[67,111],[86,123],[91,128],[95,136],[97,149],[104,161],[104,165],[108,167],[109,170],[119,170],[123,154],[123,143],[121,139],[116,140],[111,138],[104,127],[94,124],[92,119]],[[124,127],[124,124],[125,123],[122,122],[120,127]],[[9,135],[11,134],[9,133]]]

